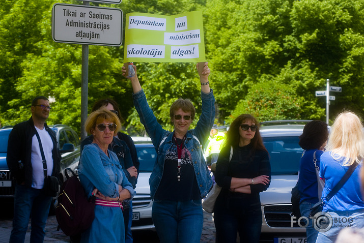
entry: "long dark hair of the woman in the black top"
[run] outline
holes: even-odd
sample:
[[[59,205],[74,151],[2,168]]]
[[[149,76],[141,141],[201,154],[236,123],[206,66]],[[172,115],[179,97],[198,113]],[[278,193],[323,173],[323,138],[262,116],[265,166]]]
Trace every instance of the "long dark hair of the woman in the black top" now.
[[[251,139],[251,142],[250,142],[251,145],[253,145],[253,149],[254,150],[264,150],[264,151],[268,152],[263,144],[262,136],[260,135],[260,132],[259,132],[260,124],[259,124],[257,118],[255,118],[253,115],[250,115],[250,114],[241,114],[233,121],[233,123],[230,125],[230,128],[226,134],[224,145],[233,146],[233,147],[239,146],[240,125],[242,123],[244,123],[246,120],[250,120],[256,126],[258,126],[255,136],[254,136],[254,138]]]

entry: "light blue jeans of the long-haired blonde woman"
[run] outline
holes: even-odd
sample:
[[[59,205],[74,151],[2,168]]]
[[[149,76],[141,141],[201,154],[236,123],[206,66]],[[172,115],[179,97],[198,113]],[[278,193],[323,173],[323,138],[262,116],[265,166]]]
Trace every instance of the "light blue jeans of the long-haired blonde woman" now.
[[[319,232],[317,243],[335,242],[339,231],[346,227],[364,228],[364,211],[332,212],[328,211],[332,218],[332,226],[326,232]]]

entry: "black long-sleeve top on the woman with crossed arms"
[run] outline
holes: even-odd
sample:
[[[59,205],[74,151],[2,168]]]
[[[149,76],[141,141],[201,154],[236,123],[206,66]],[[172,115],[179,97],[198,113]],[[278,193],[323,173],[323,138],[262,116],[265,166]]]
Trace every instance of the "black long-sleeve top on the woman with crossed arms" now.
[[[234,147],[230,162],[229,157],[230,146],[223,147],[216,163],[215,181],[222,187],[217,200],[222,202],[233,197],[243,199],[245,205],[260,204],[259,193],[267,190],[269,184],[250,184],[251,194],[233,193],[229,189],[232,177],[255,178],[259,175],[268,175],[270,181],[269,154],[264,150],[253,150],[252,145],[248,144],[243,147]]]

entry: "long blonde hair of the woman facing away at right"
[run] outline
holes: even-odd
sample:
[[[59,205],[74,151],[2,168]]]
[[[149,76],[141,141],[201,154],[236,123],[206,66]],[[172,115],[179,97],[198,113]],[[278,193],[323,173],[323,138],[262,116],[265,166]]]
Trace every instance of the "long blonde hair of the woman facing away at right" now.
[[[344,166],[360,163],[364,158],[363,126],[354,112],[344,111],[335,118],[326,150],[334,160],[345,157]]]

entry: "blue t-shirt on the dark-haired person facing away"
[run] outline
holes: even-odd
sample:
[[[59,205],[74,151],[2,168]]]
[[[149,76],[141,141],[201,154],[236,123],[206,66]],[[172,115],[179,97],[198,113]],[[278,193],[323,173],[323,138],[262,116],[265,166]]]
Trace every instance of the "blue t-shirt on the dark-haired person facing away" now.
[[[316,151],[316,165],[320,167],[322,150],[304,150],[299,161],[298,190],[301,195],[301,202],[317,203],[321,195],[318,195],[316,168],[314,163],[314,152]]]

